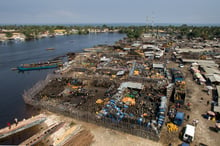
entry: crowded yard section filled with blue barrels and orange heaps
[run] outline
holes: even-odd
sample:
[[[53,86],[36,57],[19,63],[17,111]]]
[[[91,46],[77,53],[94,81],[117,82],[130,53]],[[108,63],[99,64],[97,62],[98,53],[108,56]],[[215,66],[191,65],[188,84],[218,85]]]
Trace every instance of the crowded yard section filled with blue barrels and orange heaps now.
[[[129,82],[126,83],[129,84]],[[107,102],[106,100],[96,101],[97,104],[103,105],[102,109],[96,112],[97,118],[109,118],[117,123],[124,121],[160,128],[164,123],[167,108],[165,88],[155,90],[153,86],[143,87],[140,83],[130,83],[127,86],[122,90],[118,88],[118,92]]]

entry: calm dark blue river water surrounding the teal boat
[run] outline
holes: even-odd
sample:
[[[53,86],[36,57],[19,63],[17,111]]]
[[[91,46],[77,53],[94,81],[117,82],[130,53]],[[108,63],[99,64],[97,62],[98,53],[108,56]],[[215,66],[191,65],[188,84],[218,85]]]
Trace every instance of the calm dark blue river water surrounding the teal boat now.
[[[59,36],[41,40],[0,44],[0,127],[31,115],[31,108],[25,105],[22,94],[37,81],[42,80],[53,70],[40,70],[18,73],[11,68],[22,63],[46,61],[67,52],[82,52],[98,44],[114,44],[125,37],[118,33],[97,33],[88,35]],[[46,51],[46,48],[56,48]]]

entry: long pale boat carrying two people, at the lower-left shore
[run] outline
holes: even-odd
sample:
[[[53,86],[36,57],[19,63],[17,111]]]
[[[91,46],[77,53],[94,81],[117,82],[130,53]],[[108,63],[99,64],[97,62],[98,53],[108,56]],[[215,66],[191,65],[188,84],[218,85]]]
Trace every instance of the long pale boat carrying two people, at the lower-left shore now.
[[[17,124],[14,123],[10,126],[10,128],[9,127],[2,128],[0,129],[0,139],[6,138],[10,135],[16,134],[30,127],[39,125],[43,123],[46,119],[47,118],[44,114],[39,114],[27,120],[24,119],[22,121],[19,121]]]

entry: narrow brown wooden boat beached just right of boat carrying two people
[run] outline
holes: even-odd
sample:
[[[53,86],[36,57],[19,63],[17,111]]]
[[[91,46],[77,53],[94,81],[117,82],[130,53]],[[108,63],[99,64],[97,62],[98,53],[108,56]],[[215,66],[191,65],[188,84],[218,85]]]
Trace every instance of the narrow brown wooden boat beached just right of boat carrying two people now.
[[[50,125],[46,130],[38,132],[37,134],[33,135],[32,137],[28,138],[27,140],[23,141],[19,145],[35,145],[45,139],[46,137],[50,136],[52,133],[59,130],[64,125],[64,122],[61,123],[54,123]]]

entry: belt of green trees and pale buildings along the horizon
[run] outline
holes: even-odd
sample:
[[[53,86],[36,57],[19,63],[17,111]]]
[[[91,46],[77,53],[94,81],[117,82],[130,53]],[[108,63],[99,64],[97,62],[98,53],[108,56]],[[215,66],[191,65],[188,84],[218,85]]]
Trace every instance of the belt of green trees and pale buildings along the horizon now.
[[[10,38],[13,32],[23,33],[26,40],[41,38],[40,35],[55,35],[55,30],[64,30],[64,35],[71,34],[88,34],[91,30],[97,32],[114,32],[127,34],[130,39],[138,39],[143,33],[163,32],[170,34],[171,37],[177,39],[187,38],[201,38],[203,40],[220,38],[220,27],[219,26],[188,26],[186,24],[181,26],[108,26],[104,25],[2,25],[1,30],[10,30],[5,32],[6,36]]]

